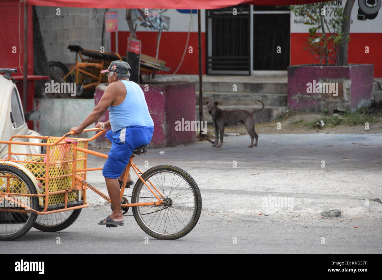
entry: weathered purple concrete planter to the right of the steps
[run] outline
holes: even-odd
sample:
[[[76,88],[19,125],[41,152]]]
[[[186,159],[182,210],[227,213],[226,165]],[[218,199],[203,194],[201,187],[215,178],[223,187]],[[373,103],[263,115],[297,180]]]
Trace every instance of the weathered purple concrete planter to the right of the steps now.
[[[336,82],[338,96],[327,93],[308,93],[307,83]],[[372,98],[373,64],[349,66],[288,66],[288,107],[294,110],[332,112],[336,107],[354,110],[368,106]]]

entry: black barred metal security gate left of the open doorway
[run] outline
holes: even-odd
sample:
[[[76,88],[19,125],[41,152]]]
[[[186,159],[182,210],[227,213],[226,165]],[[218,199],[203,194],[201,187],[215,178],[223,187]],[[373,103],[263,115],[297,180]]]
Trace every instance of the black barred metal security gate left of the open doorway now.
[[[249,5],[206,10],[206,73],[250,75],[250,35]]]

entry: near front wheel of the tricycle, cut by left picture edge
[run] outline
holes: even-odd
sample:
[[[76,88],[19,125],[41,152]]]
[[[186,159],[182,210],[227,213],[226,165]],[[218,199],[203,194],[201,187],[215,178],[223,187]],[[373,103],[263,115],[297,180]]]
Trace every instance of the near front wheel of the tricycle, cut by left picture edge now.
[[[37,209],[37,197],[18,195],[37,194],[31,179],[14,166],[0,165],[0,192],[6,192],[7,186],[12,193],[12,195],[8,196],[20,201],[29,208]],[[26,234],[36,221],[37,214],[9,211],[27,209],[15,207],[17,205],[10,205],[3,197],[0,200],[2,200],[2,207],[0,207],[0,240],[15,240]]]

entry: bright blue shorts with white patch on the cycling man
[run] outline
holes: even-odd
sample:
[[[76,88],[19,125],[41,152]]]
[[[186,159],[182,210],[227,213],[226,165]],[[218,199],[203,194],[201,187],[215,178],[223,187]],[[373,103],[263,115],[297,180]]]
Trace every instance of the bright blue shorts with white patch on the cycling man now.
[[[104,168],[102,168],[102,175],[109,179],[121,176],[133,151],[139,146],[148,145],[153,132],[154,127],[139,125],[122,128],[116,133],[111,130],[107,131],[105,138],[112,142],[112,147]]]

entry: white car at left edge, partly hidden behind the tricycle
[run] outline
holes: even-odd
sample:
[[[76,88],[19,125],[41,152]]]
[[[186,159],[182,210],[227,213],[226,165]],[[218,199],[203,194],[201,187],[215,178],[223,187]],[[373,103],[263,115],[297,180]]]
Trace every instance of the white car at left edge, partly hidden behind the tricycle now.
[[[17,69],[0,69],[0,140],[8,141],[13,135],[36,135],[40,134],[28,129],[28,120],[39,120],[40,112],[31,110],[24,114],[21,99],[11,73]],[[29,141],[41,143],[37,138],[13,138],[12,141]],[[41,146],[11,145],[12,153],[41,154]],[[0,158],[8,157],[8,145],[0,144]],[[11,155],[12,160],[24,160],[24,155]]]

